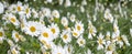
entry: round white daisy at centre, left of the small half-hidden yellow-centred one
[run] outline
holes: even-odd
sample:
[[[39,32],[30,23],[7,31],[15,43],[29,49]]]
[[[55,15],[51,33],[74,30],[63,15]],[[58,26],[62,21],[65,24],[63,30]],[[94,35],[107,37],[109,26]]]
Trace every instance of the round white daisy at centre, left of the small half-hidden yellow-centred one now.
[[[72,34],[67,30],[62,32],[61,37],[63,39],[64,43],[69,43],[72,41]]]

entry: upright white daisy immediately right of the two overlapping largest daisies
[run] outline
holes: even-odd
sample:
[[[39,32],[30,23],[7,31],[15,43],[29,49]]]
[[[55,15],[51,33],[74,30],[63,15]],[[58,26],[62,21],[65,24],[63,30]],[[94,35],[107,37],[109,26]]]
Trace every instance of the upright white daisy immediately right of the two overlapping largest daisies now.
[[[52,23],[48,28],[50,28],[54,39],[58,37],[59,28],[57,26],[57,24]]]

